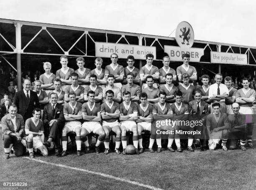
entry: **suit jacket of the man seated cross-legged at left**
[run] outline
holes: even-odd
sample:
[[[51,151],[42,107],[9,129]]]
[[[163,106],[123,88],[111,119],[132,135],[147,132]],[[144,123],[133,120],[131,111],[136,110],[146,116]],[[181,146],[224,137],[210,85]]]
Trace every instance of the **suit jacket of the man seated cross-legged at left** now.
[[[43,122],[44,125],[48,125],[51,120],[57,120],[57,122],[65,122],[63,114],[63,105],[56,103],[54,114],[52,113],[51,103],[44,106]]]

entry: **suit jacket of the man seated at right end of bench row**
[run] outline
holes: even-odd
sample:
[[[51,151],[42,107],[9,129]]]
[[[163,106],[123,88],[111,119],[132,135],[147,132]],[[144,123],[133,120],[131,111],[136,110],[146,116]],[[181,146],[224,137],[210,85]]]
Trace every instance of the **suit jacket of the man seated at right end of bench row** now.
[[[197,113],[197,102],[196,100],[192,100],[189,102],[189,115],[191,116],[197,116],[197,117],[200,117],[200,116],[203,116],[204,114],[209,114],[209,109],[208,109],[208,104],[201,100],[201,103],[200,103],[200,113],[198,114]]]

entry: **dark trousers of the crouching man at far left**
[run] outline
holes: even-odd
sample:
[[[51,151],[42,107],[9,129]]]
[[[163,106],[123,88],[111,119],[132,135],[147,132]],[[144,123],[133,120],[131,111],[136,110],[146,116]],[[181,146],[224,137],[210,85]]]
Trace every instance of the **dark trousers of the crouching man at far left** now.
[[[18,142],[15,137],[9,135],[3,135],[4,148],[9,148],[10,144],[13,144],[13,153],[16,156],[22,156],[24,153],[24,146],[21,142]]]

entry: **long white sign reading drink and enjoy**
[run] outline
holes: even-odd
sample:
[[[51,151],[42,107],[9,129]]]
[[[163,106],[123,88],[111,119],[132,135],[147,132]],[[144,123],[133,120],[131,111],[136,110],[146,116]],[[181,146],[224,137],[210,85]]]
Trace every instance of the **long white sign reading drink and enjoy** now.
[[[126,59],[128,55],[133,55],[135,59],[140,60],[144,60],[146,54],[151,53],[156,59],[156,47],[95,42],[96,57],[110,57],[112,53],[116,53],[119,58]]]

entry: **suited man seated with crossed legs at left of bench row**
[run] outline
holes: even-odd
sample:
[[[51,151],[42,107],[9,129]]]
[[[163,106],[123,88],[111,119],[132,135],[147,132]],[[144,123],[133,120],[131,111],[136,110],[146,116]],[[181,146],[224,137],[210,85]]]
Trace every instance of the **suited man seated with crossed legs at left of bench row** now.
[[[62,128],[64,127],[65,117],[63,114],[63,106],[57,103],[57,93],[51,92],[50,99],[51,103],[44,106],[44,129],[45,131],[49,130],[49,139],[44,143],[44,145],[50,147],[51,142],[54,141],[55,155],[60,156],[60,137]]]

